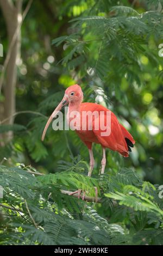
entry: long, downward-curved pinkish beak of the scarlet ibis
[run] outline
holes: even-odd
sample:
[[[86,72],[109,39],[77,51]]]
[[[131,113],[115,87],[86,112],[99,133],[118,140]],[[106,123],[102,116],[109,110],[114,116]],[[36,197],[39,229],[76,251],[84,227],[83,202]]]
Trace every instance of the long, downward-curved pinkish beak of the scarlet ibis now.
[[[49,117],[49,119],[48,119],[48,121],[46,123],[46,126],[45,126],[45,128],[43,130],[41,141],[43,141],[43,139],[45,138],[46,131],[48,129],[49,124],[51,124],[51,121],[53,120],[53,118],[56,117],[56,115],[61,110],[61,108],[64,107],[65,105],[67,105],[67,104],[68,104],[68,97],[67,97],[67,95],[64,95],[63,99],[61,100],[61,102],[59,103],[57,108],[54,109],[53,113]]]

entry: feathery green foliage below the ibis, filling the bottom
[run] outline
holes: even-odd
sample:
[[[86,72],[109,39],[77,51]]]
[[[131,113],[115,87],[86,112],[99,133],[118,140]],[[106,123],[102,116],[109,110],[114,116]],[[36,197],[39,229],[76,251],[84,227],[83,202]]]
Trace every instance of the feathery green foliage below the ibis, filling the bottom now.
[[[84,161],[65,162],[64,171],[47,175],[30,166],[1,166],[1,244],[162,244],[163,205],[157,187],[131,169],[89,178],[80,174],[84,166]],[[100,204],[62,193],[81,188],[95,197],[95,186]],[[105,205],[109,218],[99,214],[98,204]]]

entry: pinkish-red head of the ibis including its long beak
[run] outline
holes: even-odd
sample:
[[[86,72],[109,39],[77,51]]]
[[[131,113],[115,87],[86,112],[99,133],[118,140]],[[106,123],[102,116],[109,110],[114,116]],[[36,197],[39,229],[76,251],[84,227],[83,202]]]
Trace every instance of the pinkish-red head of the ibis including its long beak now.
[[[68,87],[65,90],[65,95],[64,95],[63,99],[61,100],[61,102],[59,103],[57,108],[54,109],[53,113],[51,114],[51,117],[49,117],[49,119],[46,123],[46,126],[43,130],[43,133],[42,133],[42,138],[41,138],[42,141],[45,138],[46,131],[48,129],[49,124],[51,123],[53,118],[56,117],[56,115],[61,110],[61,108],[64,107],[65,105],[67,105],[70,102],[78,104],[82,101],[83,101],[83,92],[82,92],[81,87],[78,86],[78,84],[74,84],[73,86]]]

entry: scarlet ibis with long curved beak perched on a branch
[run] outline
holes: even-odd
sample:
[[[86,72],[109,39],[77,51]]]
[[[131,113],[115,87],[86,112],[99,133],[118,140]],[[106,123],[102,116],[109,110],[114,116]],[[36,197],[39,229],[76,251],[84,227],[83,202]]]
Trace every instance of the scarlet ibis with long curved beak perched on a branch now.
[[[90,102],[83,102],[83,92],[82,88],[78,86],[78,84],[74,84],[73,86],[68,87],[65,90],[65,95],[57,108],[53,111],[51,117],[49,117],[45,129],[42,133],[42,141],[45,138],[46,131],[48,129],[49,124],[51,123],[52,119],[56,117],[58,112],[61,110],[62,107],[68,104],[68,112],[67,112],[67,122],[71,126],[73,119],[76,120],[77,129],[76,132],[80,139],[84,142],[86,147],[89,149],[90,155],[90,169],[88,176],[91,176],[92,169],[95,164],[95,160],[93,158],[92,152],[92,143],[101,144],[103,148],[103,158],[101,161],[101,174],[104,173],[105,164],[106,164],[106,157],[105,157],[105,148],[109,148],[114,151],[118,151],[122,156],[128,157],[129,151],[131,148],[134,147],[135,141],[134,138],[130,135],[130,133],[118,122],[116,115],[112,113],[109,109],[99,105],[97,103],[90,103]],[[88,115],[86,116],[86,120],[82,120],[83,113],[91,112],[92,118]],[[103,113],[102,117],[104,120],[99,119],[94,113],[96,112]],[[72,113],[78,113],[72,115]],[[107,124],[107,116],[110,117],[110,132],[108,135],[104,134],[104,129],[102,129],[101,124],[102,122]],[[83,129],[84,123],[84,129]],[[86,126],[85,126],[86,123]],[[104,125],[103,123],[103,125]],[[96,127],[95,127],[96,126]],[[98,129],[97,129],[98,127]]]

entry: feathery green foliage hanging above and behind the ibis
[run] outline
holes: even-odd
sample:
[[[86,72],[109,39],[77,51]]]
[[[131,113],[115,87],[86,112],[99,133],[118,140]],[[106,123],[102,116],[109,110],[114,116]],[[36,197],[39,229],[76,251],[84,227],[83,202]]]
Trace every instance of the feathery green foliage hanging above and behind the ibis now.
[[[65,57],[60,61],[68,70],[80,70],[82,78],[87,73],[96,86],[101,80],[100,86],[106,92],[115,91],[117,99],[122,100],[119,90],[122,77],[140,86],[137,75],[143,70],[140,56],[148,52],[150,38],[154,38],[156,44],[163,32],[162,13],[156,8],[159,3],[148,1],[148,8],[152,6],[152,10],[139,13],[122,3],[95,1],[91,11],[86,10],[71,20],[74,33],[53,40],[55,46],[64,45]],[[159,67],[157,55],[155,46],[148,56],[154,68]]]

